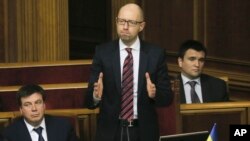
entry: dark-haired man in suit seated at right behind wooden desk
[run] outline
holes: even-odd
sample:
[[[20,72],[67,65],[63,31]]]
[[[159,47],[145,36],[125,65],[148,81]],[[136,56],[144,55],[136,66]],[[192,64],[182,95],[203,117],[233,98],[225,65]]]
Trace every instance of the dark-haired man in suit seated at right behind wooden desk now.
[[[181,68],[179,76],[181,103],[229,101],[225,81],[202,74],[206,55],[206,48],[198,41],[188,40],[180,46],[178,64]],[[198,102],[192,100],[193,90],[190,82],[194,82],[194,91],[198,96]]]

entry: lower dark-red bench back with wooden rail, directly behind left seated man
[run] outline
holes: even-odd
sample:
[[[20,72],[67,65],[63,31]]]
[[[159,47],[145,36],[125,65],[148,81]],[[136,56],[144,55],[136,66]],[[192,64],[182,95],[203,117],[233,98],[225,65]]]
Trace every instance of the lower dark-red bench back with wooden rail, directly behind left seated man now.
[[[46,109],[84,108],[87,83],[42,84],[46,94]],[[19,110],[16,93],[21,86],[0,86],[0,111]],[[58,102],[60,101],[60,102]]]

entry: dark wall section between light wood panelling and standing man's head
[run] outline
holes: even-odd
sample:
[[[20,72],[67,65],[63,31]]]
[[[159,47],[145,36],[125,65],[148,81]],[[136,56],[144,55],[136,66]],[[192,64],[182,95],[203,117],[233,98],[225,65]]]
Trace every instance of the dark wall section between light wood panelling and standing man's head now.
[[[70,59],[93,58],[95,46],[110,39],[110,0],[69,0]]]

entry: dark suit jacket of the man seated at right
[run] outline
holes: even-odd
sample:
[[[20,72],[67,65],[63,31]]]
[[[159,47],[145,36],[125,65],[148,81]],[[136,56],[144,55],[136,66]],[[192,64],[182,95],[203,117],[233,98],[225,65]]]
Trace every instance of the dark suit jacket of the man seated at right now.
[[[181,82],[180,83],[181,103],[186,103],[181,75],[179,75],[179,79]],[[225,81],[206,74],[201,74],[200,81],[201,81],[201,91],[204,103],[229,101],[229,95],[227,92],[227,85]]]

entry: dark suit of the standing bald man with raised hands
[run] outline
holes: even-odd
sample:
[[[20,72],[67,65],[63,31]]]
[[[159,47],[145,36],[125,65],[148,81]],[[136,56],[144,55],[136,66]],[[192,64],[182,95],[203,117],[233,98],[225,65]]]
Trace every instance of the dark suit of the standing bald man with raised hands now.
[[[138,78],[138,120],[142,141],[158,141],[159,129],[155,106],[165,106],[172,101],[170,81],[167,74],[164,49],[141,42]],[[121,72],[118,40],[96,48],[86,96],[88,108],[93,103],[93,84],[103,72],[103,96],[100,101],[100,115],[97,127],[97,141],[113,141],[119,125],[121,107]],[[156,84],[156,97],[148,97],[145,73],[149,72]]]

